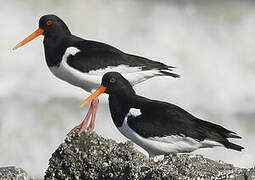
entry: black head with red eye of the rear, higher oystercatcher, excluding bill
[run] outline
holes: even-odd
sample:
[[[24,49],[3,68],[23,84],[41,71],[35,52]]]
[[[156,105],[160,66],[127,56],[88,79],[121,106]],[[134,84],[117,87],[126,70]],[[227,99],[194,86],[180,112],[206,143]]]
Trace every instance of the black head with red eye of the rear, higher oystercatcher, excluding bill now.
[[[39,29],[43,29],[43,35],[52,36],[58,33],[70,35],[67,25],[56,15],[44,15],[39,20]]]

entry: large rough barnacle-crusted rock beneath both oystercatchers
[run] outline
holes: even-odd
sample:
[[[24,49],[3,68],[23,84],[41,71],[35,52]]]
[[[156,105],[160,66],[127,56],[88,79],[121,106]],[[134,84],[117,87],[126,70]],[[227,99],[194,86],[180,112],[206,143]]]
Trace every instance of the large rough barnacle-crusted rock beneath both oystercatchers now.
[[[150,163],[131,142],[116,143],[95,132],[67,137],[49,160],[45,179],[249,179],[241,169],[200,155],[168,155]]]

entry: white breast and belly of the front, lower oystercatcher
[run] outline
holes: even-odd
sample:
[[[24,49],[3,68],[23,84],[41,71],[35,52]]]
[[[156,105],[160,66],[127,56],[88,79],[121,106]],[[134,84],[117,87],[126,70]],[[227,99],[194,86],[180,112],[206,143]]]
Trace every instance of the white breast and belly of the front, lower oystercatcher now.
[[[199,142],[190,137],[178,135],[144,138],[128,126],[127,119],[130,115],[134,116],[134,114],[129,112],[125,117],[122,126],[118,129],[124,136],[145,149],[149,153],[150,157],[169,153],[192,152],[196,149],[205,147],[222,146],[220,143],[215,141],[205,140],[203,142]]]

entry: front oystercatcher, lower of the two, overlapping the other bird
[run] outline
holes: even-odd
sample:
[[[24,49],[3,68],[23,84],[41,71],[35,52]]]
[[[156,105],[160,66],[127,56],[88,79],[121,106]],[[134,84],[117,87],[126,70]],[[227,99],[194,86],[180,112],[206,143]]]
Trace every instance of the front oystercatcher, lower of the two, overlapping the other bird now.
[[[198,119],[174,104],[136,95],[131,84],[117,72],[106,73],[101,86],[81,107],[104,92],[109,94],[115,126],[124,136],[145,149],[150,158],[214,146],[237,151],[244,149],[229,142],[228,138],[241,138],[235,132]]]

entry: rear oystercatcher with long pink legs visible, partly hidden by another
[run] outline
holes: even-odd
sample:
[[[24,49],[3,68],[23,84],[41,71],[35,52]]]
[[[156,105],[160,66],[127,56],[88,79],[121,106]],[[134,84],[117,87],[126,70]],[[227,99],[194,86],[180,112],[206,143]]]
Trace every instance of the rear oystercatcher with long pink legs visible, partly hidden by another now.
[[[39,35],[44,35],[44,51],[50,71],[58,78],[92,92],[100,86],[104,73],[122,73],[132,85],[154,76],[179,75],[172,73],[172,66],[150,59],[127,54],[115,47],[96,41],[89,41],[72,35],[67,25],[55,15],[45,15],[39,20],[39,28],[16,45],[13,49],[28,43]],[[91,116],[89,129],[94,129],[98,99],[91,103],[83,122],[74,127],[79,133],[86,128]]]

